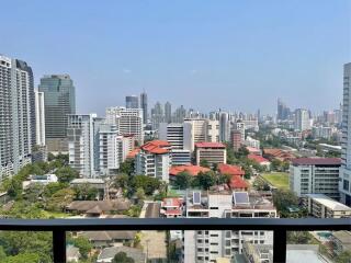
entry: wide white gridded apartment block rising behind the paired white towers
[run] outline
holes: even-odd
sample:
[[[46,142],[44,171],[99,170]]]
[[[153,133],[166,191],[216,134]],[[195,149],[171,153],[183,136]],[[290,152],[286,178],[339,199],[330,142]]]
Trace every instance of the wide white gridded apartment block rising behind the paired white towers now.
[[[143,108],[107,107],[106,122],[117,125],[121,135],[134,135],[139,145],[143,145]]]

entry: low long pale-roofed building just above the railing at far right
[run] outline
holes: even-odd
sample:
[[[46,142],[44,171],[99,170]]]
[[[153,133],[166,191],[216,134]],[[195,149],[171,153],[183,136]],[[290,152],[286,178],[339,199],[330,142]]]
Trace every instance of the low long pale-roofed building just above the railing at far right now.
[[[307,194],[306,207],[308,214],[317,218],[351,218],[351,207],[324,194]]]

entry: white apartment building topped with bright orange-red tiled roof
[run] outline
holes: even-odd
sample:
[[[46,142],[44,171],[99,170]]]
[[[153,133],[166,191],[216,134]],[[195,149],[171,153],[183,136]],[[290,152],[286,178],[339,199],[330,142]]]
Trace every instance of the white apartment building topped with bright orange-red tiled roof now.
[[[144,174],[169,182],[171,167],[170,144],[165,140],[148,141],[135,158],[136,174]]]

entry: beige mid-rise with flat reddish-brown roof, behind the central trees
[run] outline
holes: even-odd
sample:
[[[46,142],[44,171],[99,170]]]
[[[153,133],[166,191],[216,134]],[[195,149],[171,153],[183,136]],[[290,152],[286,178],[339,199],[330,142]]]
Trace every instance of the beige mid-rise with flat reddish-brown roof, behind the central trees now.
[[[227,163],[226,146],[220,142],[197,142],[195,144],[196,165],[207,161],[210,165],[215,163]]]

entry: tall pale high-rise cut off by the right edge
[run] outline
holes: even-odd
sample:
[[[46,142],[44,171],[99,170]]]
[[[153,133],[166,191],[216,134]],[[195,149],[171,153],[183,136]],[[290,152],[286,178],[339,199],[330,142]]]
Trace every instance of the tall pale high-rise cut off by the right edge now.
[[[343,66],[343,108],[341,169],[339,178],[340,201],[351,206],[351,62]]]

